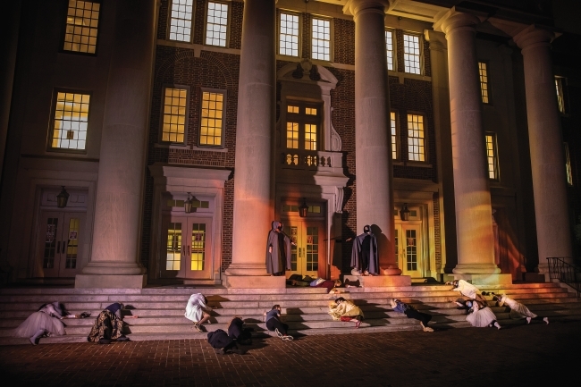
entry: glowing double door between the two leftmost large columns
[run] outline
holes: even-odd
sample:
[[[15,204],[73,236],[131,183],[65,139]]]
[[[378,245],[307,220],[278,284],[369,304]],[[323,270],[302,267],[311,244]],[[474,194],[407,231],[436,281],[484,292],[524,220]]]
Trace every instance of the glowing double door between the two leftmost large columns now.
[[[161,276],[206,280],[212,277],[212,220],[192,215],[165,215]]]

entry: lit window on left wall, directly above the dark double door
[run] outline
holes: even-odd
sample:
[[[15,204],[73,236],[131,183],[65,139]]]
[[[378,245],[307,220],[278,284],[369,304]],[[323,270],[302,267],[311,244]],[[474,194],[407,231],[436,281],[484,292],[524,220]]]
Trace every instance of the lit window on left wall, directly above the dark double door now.
[[[55,122],[50,147],[84,150],[87,147],[88,94],[56,93]]]

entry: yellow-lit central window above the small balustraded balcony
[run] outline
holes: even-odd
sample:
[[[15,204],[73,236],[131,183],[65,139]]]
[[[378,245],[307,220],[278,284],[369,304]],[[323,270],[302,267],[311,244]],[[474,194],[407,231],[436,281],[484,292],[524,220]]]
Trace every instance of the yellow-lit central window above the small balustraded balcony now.
[[[286,147],[317,150],[320,128],[320,106],[291,102],[287,105]]]

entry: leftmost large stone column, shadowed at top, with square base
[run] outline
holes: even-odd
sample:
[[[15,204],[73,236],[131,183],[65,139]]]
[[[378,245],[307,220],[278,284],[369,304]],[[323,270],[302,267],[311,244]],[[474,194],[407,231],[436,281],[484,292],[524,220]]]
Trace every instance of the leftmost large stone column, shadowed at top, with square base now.
[[[81,288],[140,288],[146,281],[139,229],[156,1],[114,6],[93,245],[91,261],[75,282]]]

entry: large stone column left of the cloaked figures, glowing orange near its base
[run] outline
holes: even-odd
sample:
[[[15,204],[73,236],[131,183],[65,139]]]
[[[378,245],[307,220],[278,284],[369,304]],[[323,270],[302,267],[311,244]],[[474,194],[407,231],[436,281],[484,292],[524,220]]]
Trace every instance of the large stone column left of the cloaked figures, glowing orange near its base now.
[[[224,282],[231,287],[284,287],[284,277],[264,277],[266,237],[274,221],[275,4],[275,0],[244,1],[232,264]],[[258,278],[250,280],[248,276]]]

